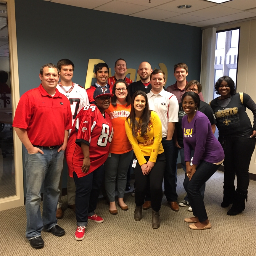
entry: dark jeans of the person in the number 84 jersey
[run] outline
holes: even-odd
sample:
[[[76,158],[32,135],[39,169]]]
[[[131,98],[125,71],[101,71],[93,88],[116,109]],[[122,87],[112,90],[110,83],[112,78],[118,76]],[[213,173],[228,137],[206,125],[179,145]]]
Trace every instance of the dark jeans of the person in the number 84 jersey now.
[[[104,179],[105,165],[101,165],[86,176],[78,178],[73,172],[75,181],[75,215],[77,226],[87,226],[88,215],[95,214],[101,184]]]

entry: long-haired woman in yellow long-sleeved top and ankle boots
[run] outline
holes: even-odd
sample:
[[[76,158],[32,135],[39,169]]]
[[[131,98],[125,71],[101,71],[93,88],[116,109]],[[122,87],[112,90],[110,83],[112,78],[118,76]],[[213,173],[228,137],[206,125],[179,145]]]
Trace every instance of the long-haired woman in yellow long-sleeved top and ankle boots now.
[[[125,131],[132,145],[135,189],[134,219],[141,220],[142,205],[149,180],[152,207],[152,228],[160,227],[159,210],[162,202],[162,182],[165,154],[162,147],[162,124],[157,113],[149,110],[146,94],[136,91],[132,97],[131,113]]]

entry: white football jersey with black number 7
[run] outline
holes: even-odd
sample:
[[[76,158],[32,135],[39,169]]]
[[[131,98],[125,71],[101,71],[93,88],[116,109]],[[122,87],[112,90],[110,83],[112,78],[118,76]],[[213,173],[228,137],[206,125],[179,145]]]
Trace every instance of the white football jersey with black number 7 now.
[[[71,113],[72,113],[72,125],[74,124],[75,118],[79,111],[89,105],[89,99],[85,88],[77,83],[73,83],[72,86],[62,86],[61,83],[57,84],[57,89],[60,93],[67,96],[70,102]],[[71,131],[71,129],[70,129]],[[69,133],[70,133],[69,131]]]

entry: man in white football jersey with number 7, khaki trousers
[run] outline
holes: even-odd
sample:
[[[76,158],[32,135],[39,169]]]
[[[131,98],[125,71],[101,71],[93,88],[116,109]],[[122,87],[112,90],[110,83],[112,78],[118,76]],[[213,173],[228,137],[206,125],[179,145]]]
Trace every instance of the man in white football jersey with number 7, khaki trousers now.
[[[73,72],[75,69],[74,63],[69,59],[61,59],[57,63],[59,69],[60,82],[57,84],[59,92],[64,94],[70,102],[72,112],[72,125],[74,124],[75,118],[79,111],[86,105],[89,105],[88,96],[85,88],[72,82]],[[69,133],[71,132],[71,129]],[[61,200],[62,197],[62,175],[61,173],[59,181],[59,201],[57,206],[56,218],[61,219],[63,217]],[[67,175],[67,207],[75,212],[75,182],[73,178]]]

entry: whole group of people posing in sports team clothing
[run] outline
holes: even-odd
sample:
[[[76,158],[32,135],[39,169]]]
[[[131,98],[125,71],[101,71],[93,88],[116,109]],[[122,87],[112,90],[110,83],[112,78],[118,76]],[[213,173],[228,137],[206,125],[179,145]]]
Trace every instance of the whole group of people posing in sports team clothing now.
[[[255,148],[256,105],[249,95],[236,93],[230,77],[217,81],[215,91],[220,97],[207,104],[201,84],[187,82],[185,63],[174,65],[177,81],[166,89],[164,71],[153,71],[148,62],[139,65],[141,80],[137,82],[125,77],[124,59],[115,62],[115,75],[110,78],[108,65],[99,63],[94,69],[96,82],[86,90],[72,82],[73,71],[74,64],[68,59],[60,60],[57,66],[42,66],[40,86],[21,96],[15,112],[13,127],[25,146],[26,237],[32,247],[44,246],[43,229],[55,236],[65,234],[57,225],[57,218],[63,217],[60,191],[64,159],[68,207],[76,215],[78,241],[85,237],[88,220],[104,221],[95,212],[102,186],[111,214],[117,214],[116,183],[117,204],[128,210],[124,193],[131,168],[135,176],[134,219],[141,220],[142,209],[152,207],[152,228],[160,227],[163,180],[170,208],[177,212],[179,206],[190,206],[188,210],[193,211],[194,217],[184,219],[189,228],[211,228],[203,201],[205,183],[222,163],[221,206],[232,204],[228,215],[245,209],[248,169]],[[254,114],[253,127],[246,108]],[[178,152],[187,192],[179,204]]]

